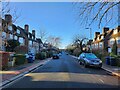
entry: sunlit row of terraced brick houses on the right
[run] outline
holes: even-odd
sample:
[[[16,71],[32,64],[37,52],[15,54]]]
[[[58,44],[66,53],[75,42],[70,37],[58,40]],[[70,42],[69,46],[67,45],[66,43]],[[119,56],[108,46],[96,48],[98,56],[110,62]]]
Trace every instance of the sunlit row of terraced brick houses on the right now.
[[[120,26],[115,29],[104,27],[101,34],[100,32],[95,32],[95,37],[91,44],[92,50],[101,53],[108,52],[108,48],[112,49],[115,40],[117,43],[117,54],[120,55]]]

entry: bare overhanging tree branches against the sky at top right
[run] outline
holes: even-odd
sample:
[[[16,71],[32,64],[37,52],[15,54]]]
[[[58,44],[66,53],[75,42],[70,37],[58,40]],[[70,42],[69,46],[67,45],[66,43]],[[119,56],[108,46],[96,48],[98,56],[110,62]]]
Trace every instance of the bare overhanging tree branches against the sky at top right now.
[[[79,10],[78,16],[80,23],[87,26],[93,24],[94,21],[98,21],[98,27],[101,27],[101,23],[104,21],[107,25],[110,22],[116,23],[120,18],[118,12],[119,2],[77,2],[73,3]],[[116,20],[115,20],[116,19]]]

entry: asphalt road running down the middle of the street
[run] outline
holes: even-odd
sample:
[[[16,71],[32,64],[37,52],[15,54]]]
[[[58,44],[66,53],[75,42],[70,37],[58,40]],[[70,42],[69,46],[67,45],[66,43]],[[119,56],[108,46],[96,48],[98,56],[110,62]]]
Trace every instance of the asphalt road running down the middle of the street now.
[[[74,58],[63,54],[7,88],[116,88],[119,81],[103,69],[84,68]]]

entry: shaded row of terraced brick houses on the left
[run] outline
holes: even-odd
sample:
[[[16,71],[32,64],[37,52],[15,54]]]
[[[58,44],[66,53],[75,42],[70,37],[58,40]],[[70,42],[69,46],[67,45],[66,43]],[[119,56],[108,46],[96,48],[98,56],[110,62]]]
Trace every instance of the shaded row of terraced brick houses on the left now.
[[[29,32],[29,25],[24,25],[24,28],[16,26],[12,23],[12,16],[9,14],[5,15],[2,19],[2,42],[0,51],[6,51],[5,45],[7,40],[14,39],[20,42],[20,45],[26,46],[27,51],[37,53],[43,47],[43,43],[40,38],[36,38],[35,30],[32,33]]]

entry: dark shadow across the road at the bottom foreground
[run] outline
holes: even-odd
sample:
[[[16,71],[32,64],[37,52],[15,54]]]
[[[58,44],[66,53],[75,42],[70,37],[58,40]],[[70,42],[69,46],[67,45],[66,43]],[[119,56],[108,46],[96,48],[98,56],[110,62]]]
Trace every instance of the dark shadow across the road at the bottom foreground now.
[[[28,81],[28,82],[25,82]],[[84,81],[47,81],[47,80],[35,80],[31,76],[27,76],[24,80],[19,82],[19,84],[14,84],[9,87],[12,88],[113,88],[118,89],[118,86],[94,83],[94,82],[84,82]],[[8,88],[8,89],[9,89]]]

